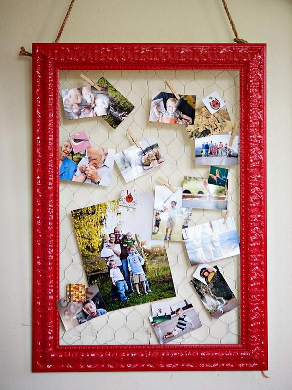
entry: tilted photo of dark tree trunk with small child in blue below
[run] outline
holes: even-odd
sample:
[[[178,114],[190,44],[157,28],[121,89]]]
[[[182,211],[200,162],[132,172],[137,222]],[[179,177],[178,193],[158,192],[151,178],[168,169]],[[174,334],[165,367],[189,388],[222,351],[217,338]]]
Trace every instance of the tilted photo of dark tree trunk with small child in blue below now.
[[[208,313],[214,319],[238,306],[236,297],[216,265],[214,267],[209,264],[198,266],[191,283]]]

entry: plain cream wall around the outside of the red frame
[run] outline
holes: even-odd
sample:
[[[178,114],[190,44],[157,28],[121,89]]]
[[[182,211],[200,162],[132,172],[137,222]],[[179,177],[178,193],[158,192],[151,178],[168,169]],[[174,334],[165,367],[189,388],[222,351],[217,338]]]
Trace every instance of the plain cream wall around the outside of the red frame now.
[[[288,389],[291,386],[291,0],[229,0],[239,36],[268,44],[269,379],[260,372],[32,374],[31,59],[24,45],[55,40],[70,1],[0,5],[1,291],[0,389]],[[183,6],[183,8],[182,8]],[[225,42],[233,34],[220,0],[76,1],[61,42]],[[19,301],[15,302],[15,297]]]

